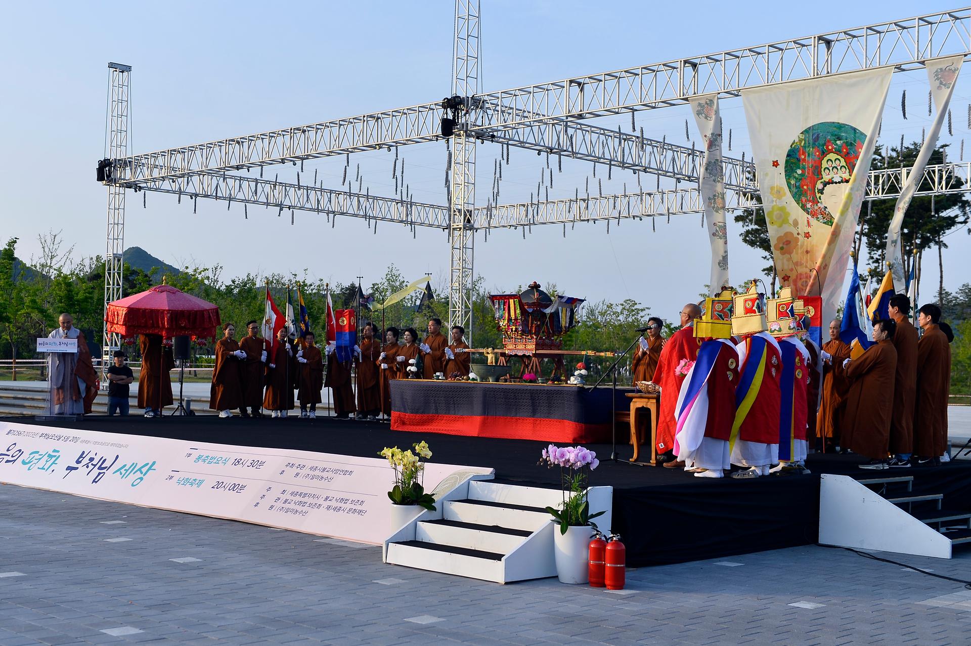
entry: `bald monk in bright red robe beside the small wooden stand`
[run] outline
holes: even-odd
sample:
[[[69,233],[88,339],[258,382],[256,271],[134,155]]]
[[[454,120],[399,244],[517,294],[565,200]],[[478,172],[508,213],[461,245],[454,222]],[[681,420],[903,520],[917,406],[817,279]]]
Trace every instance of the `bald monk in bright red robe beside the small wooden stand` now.
[[[685,374],[676,372],[682,361],[693,361],[698,357],[700,339],[694,338],[693,322],[701,317],[701,308],[688,303],[681,308],[681,329],[664,342],[653,382],[661,389],[660,407],[657,414],[657,458],[664,466],[679,468],[685,466],[683,460],[674,455],[674,436],[676,432],[675,407],[678,393],[685,382]]]

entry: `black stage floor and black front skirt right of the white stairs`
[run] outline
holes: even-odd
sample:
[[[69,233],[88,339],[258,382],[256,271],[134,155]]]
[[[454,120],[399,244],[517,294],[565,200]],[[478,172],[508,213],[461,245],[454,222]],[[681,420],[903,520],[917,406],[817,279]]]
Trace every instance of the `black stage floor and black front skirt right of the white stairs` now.
[[[496,481],[558,487],[559,470],[538,464],[545,442],[394,431],[378,422],[246,420],[217,417],[145,419],[88,417],[71,428],[218,442],[253,447],[318,451],[377,457],[385,446],[406,448],[428,442],[432,461],[495,469]],[[622,536],[630,566],[696,561],[806,545],[817,541],[820,473],[854,477],[914,476],[914,493],[944,493],[945,507],[971,511],[971,461],[934,468],[867,471],[856,456],[814,454],[806,460],[812,475],[754,480],[695,478],[682,469],[636,466],[611,461],[610,444],[586,445],[600,466],[591,485],[614,487],[614,530]],[[619,446],[620,458],[631,449]]]

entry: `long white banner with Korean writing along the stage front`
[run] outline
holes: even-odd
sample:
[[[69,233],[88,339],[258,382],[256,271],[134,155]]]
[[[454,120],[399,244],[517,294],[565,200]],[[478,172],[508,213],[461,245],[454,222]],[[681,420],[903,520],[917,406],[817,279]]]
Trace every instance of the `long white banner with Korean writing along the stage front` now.
[[[427,462],[424,487],[493,475]],[[0,482],[379,545],[394,471],[381,458],[0,422]]]

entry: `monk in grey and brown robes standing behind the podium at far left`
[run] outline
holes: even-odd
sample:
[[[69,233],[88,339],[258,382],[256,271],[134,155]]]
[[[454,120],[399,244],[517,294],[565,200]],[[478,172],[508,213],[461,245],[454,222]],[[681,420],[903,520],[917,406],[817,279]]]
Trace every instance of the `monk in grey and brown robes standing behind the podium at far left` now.
[[[48,335],[50,339],[77,339],[78,350],[70,353],[50,353],[50,410],[52,415],[86,415],[98,396],[98,373],[94,371],[91,351],[87,347],[84,332],[74,326],[70,314],[57,318],[57,328]],[[84,389],[82,389],[84,384]]]

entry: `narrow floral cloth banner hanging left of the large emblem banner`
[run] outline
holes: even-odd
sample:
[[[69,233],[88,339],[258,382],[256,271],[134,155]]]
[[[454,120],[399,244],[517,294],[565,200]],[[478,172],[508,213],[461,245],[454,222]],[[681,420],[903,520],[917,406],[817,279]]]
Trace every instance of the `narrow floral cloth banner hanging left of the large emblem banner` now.
[[[728,233],[725,228],[725,179],[721,163],[721,115],[719,95],[706,94],[691,104],[694,122],[698,124],[704,143],[705,156],[698,173],[698,192],[708,222],[708,237],[712,246],[712,271],[709,295],[716,295],[728,282]]]

